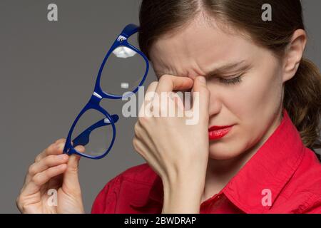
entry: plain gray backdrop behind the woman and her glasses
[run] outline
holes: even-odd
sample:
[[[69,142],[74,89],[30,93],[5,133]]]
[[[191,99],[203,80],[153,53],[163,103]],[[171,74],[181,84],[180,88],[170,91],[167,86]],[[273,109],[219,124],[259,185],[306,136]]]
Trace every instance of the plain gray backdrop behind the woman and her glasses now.
[[[50,3],[58,5],[58,22],[47,20]],[[0,213],[18,212],[15,200],[26,170],[41,150],[66,138],[93,91],[111,42],[123,26],[138,24],[139,4],[138,0],[0,1]],[[303,1],[310,36],[305,56],[319,68],[320,6],[317,0]],[[150,71],[145,85],[155,80]],[[144,162],[131,145],[136,118],[123,118],[123,103],[102,102],[109,113],[121,117],[111,152],[102,160],[81,160],[86,212],[108,180]]]

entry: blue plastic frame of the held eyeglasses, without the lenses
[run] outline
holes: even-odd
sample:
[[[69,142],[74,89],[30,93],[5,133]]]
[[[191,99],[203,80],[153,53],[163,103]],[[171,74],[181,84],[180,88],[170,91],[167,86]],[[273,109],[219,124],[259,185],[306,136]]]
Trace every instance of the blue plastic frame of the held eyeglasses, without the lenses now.
[[[81,112],[77,115],[76,119],[73,120],[73,125],[71,125],[71,128],[68,132],[68,136],[66,138],[65,146],[63,148],[64,153],[66,153],[68,155],[76,154],[76,155],[80,155],[82,157],[87,157],[87,158],[98,160],[98,159],[101,159],[101,158],[105,157],[106,155],[108,155],[108,152],[111,150],[111,147],[113,147],[113,143],[116,138],[115,123],[117,123],[119,117],[116,114],[110,115],[104,108],[101,107],[100,102],[104,98],[109,98],[109,99],[128,98],[129,96],[135,94],[138,91],[139,87],[142,86],[144,81],[146,80],[146,76],[147,76],[148,70],[149,70],[148,58],[140,50],[138,50],[138,48],[131,45],[131,43],[128,43],[128,38],[130,38],[133,34],[137,33],[138,29],[139,29],[139,26],[136,26],[136,24],[128,24],[127,26],[125,26],[125,28],[123,28],[123,31],[121,31],[121,33],[117,36],[116,40],[113,42],[113,45],[111,46],[111,48],[109,48],[105,58],[103,58],[103,62],[101,63],[101,66],[99,68],[98,75],[96,78],[96,83],[95,83],[95,87],[93,90],[93,94],[91,95],[91,98],[88,101],[88,103],[83,107]],[[136,51],[136,53],[140,54],[146,62],[146,71],[145,71],[145,74],[144,74],[141,82],[134,90],[132,90],[131,92],[127,91],[126,93],[124,93],[124,95],[114,95],[114,94],[106,93],[105,91],[103,91],[101,89],[101,73],[103,72],[103,68],[106,64],[108,57],[119,46],[126,46],[127,48],[131,48],[131,50]],[[103,118],[102,120],[98,120],[98,122],[96,122],[93,125],[91,125],[90,127],[86,128],[86,130],[83,130],[83,132],[80,133],[73,140],[73,145],[72,145],[71,144],[71,135],[73,133],[73,130],[74,130],[76,124],[78,123],[78,120],[83,115],[83,113],[86,113],[86,111],[88,111],[90,109],[98,110],[98,112],[105,115],[107,119]],[[111,140],[111,144],[109,145],[108,149],[102,155],[98,155],[98,156],[86,155],[84,153],[78,152],[74,148],[77,145],[83,145],[83,146],[87,145],[87,143],[89,142],[89,135],[90,135],[91,131],[95,130],[96,128],[100,128],[102,126],[105,126],[105,125],[112,126],[113,138]]]

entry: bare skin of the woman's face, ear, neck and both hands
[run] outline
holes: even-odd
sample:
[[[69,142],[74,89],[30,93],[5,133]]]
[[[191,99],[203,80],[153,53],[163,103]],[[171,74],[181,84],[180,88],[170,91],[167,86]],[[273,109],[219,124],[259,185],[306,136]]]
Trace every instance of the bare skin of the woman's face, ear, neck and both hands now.
[[[178,33],[159,38],[151,48],[153,68],[161,77],[146,93],[192,90],[200,95],[199,103],[193,103],[200,113],[197,125],[186,125],[185,117],[142,115],[143,108],[135,125],[133,146],[163,180],[163,213],[199,213],[200,203],[218,193],[258,151],[280,124],[283,86],[295,75],[305,49],[305,31],[297,30],[279,61],[250,39],[225,33],[214,19],[211,22],[209,26],[198,16]],[[240,60],[251,67],[203,77],[212,68]],[[238,73],[243,73],[242,82],[235,85],[218,79],[235,78]],[[175,100],[172,108],[180,108],[178,104]],[[162,103],[158,105],[163,108]],[[224,138],[208,140],[211,125],[232,124]],[[49,145],[29,167],[16,199],[21,213],[84,212],[80,157],[62,155],[65,142],[60,139]],[[51,188],[58,190],[58,207],[46,203]]]

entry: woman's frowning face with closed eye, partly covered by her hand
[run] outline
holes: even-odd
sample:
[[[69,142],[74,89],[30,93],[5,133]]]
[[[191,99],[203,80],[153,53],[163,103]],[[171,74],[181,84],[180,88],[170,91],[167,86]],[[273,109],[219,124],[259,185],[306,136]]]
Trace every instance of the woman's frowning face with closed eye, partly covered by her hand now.
[[[223,138],[210,140],[210,158],[225,160],[256,151],[280,124],[281,63],[250,39],[225,33],[214,20],[210,26],[199,16],[178,33],[158,39],[150,54],[158,78],[205,76],[208,127],[234,125]]]

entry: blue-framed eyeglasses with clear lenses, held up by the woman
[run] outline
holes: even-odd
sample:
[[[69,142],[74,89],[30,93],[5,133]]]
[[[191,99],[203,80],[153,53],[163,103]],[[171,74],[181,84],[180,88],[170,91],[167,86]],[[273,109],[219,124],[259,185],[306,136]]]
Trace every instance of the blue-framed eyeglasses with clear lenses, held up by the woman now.
[[[127,98],[138,91],[148,73],[148,59],[138,48],[128,43],[128,38],[138,31],[138,26],[128,24],[117,36],[98,71],[90,100],[71,125],[63,152],[91,159],[105,157],[116,138],[118,115],[110,115],[101,108],[103,98]],[[130,73],[130,75],[128,75]],[[72,142],[72,143],[71,143]],[[75,149],[83,145],[86,150]]]

